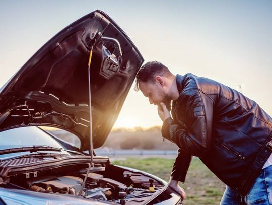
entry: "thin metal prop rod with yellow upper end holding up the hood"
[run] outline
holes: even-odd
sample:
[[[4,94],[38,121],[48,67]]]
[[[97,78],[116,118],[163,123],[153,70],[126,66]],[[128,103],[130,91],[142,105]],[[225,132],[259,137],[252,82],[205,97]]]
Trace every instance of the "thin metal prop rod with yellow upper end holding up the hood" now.
[[[86,183],[86,180],[88,178],[88,175],[89,175],[89,172],[90,170],[93,168],[93,128],[92,128],[92,102],[91,102],[91,70],[90,70],[90,67],[91,67],[91,60],[92,60],[92,55],[93,55],[93,46],[91,47],[91,50],[90,50],[90,55],[89,55],[89,62],[88,62],[88,79],[89,79],[89,114],[90,114],[90,155],[91,155],[91,162],[90,162],[90,166],[88,168],[88,171],[86,173],[86,176],[83,180],[83,183],[82,183],[82,186],[81,186],[81,189],[80,189],[80,192],[79,192],[79,195],[81,195],[82,193],[82,190],[85,186],[85,183]]]

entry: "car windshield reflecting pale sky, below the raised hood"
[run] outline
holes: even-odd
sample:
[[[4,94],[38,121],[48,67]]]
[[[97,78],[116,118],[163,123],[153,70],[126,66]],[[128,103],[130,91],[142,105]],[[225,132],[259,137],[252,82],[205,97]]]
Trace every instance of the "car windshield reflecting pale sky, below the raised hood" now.
[[[0,142],[0,150],[32,146],[50,146],[55,148],[63,148],[49,134],[40,128],[33,126],[2,131],[0,132]],[[12,155],[15,154],[16,153],[12,153]],[[23,153],[21,152],[21,154]],[[0,155],[0,157],[2,158],[8,155],[11,156],[11,154],[5,154]]]

